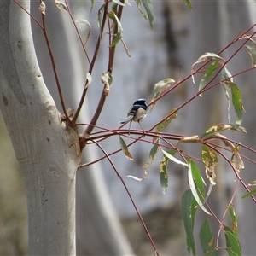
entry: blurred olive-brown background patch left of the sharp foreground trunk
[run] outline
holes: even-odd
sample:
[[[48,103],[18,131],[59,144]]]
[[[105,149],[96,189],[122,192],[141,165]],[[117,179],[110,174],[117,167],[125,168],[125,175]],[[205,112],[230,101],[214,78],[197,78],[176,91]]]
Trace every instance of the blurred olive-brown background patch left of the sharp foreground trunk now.
[[[0,180],[0,255],[26,255],[26,190],[1,113]]]

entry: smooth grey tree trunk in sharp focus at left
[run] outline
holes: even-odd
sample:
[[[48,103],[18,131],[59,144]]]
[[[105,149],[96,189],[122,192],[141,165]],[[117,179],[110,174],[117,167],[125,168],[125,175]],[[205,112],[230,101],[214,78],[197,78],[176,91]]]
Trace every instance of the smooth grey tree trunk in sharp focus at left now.
[[[29,254],[73,255],[78,135],[61,122],[44,84],[29,15],[3,1],[0,19],[0,108],[26,186]]]

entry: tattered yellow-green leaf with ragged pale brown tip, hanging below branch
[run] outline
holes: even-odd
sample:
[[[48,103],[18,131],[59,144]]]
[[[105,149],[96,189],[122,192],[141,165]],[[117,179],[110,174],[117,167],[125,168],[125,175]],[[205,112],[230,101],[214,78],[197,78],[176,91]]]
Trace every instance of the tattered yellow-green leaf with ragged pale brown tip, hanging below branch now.
[[[210,180],[212,185],[215,185],[215,166],[218,164],[216,152],[212,148],[207,147],[207,145],[203,145],[201,150],[201,160],[207,169],[207,178]]]

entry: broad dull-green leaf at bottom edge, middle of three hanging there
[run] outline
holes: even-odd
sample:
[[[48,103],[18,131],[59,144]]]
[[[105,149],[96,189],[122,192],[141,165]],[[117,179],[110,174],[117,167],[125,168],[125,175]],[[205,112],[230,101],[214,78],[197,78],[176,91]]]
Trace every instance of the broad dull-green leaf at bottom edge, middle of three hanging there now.
[[[203,248],[205,256],[218,255],[215,241],[213,240],[213,237],[212,237],[212,231],[211,231],[211,227],[208,219],[206,219],[204,223],[201,225],[200,241],[201,241],[201,247]]]

